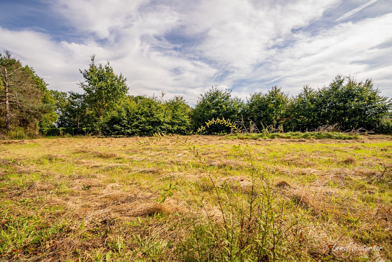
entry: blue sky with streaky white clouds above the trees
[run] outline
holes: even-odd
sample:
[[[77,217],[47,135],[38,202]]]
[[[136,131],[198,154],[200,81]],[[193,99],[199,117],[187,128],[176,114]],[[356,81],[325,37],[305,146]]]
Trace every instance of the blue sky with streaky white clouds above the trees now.
[[[390,0],[0,0],[0,50],[49,89],[76,91],[79,69],[110,61],[131,95],[212,85],[243,99],[296,95],[336,75],[372,78],[392,97]]]

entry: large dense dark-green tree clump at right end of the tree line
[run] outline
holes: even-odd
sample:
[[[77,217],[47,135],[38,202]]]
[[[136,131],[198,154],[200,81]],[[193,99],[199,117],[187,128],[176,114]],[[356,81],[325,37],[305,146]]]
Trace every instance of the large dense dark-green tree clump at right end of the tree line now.
[[[353,76],[338,75],[321,89],[303,87],[290,105],[289,126],[310,130],[338,124],[343,130],[372,130],[376,120],[387,115],[391,106],[391,100],[380,95],[371,79],[357,81]]]

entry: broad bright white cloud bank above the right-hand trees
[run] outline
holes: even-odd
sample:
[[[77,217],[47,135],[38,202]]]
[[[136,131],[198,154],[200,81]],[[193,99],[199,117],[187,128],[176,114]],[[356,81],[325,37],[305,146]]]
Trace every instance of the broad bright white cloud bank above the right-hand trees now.
[[[272,84],[290,87],[292,93],[304,84],[315,87],[327,85],[338,73],[358,75],[358,78],[373,77],[379,83],[378,79],[385,79],[379,74],[387,67],[384,64],[381,68],[372,69],[369,61],[380,59],[380,55],[390,60],[392,48],[375,47],[392,39],[392,35],[386,33],[391,27],[392,14],[387,14],[340,24],[321,31],[317,36],[299,34],[294,45],[274,56],[276,62],[272,71],[263,68],[264,73],[279,80],[271,81]],[[391,65],[390,62],[385,63]],[[391,79],[389,82],[392,84]]]

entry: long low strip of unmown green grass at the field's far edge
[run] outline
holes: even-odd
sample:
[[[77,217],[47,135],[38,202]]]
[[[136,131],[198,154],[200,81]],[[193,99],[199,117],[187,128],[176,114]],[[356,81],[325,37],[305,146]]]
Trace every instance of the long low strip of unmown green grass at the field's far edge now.
[[[252,134],[230,134],[227,138],[234,139],[265,139],[265,138],[292,138],[292,139],[360,139],[359,134],[341,132],[286,132],[286,133],[252,133]]]

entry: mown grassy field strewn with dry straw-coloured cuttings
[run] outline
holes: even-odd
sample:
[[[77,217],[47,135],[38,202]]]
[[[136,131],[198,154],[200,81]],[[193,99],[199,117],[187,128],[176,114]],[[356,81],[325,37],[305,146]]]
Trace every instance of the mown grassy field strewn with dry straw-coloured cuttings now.
[[[274,216],[268,220],[273,241],[265,244],[273,248],[260,260],[290,260],[290,254],[303,261],[392,258],[390,136],[189,136],[200,153],[170,139],[137,143],[146,139],[2,141],[0,259],[221,260],[230,253],[225,250],[230,243],[217,237],[219,227],[248,221],[237,220],[233,214],[243,213],[232,208],[247,211],[249,198],[264,199],[262,191],[251,189],[250,169],[256,164],[267,177],[261,183],[270,183],[266,192],[271,193]],[[237,147],[246,149],[246,143],[254,164]],[[241,236],[256,234],[254,221],[238,227],[239,253],[250,252]],[[214,233],[209,235],[209,230]],[[336,249],[353,243],[381,248]],[[275,251],[276,257],[270,255]]]

